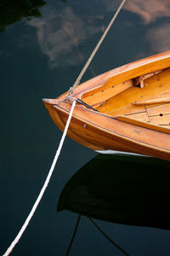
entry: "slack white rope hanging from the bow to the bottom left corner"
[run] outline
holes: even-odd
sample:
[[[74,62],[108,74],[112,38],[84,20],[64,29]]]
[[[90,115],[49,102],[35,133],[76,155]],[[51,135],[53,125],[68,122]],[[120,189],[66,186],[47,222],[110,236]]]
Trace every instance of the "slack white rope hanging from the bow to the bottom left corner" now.
[[[70,122],[71,122],[71,117],[72,117],[72,113],[74,111],[74,108],[76,106],[76,101],[74,101],[72,103],[72,106],[71,106],[71,112],[69,113],[69,118],[66,122],[66,125],[65,125],[65,131],[63,132],[63,135],[61,137],[61,140],[60,140],[60,143],[59,143],[59,148],[57,149],[56,151],[56,154],[54,156],[54,160],[53,160],[53,163],[51,165],[51,168],[48,172],[48,177],[46,178],[45,180],[45,183],[43,184],[42,186],[42,190],[40,191],[40,194],[38,195],[37,197],[37,201],[34,203],[33,207],[31,208],[31,212],[29,213],[28,217],[26,218],[26,221],[25,223],[23,224],[22,228],[20,229],[20,232],[18,233],[18,235],[15,237],[14,241],[11,243],[11,245],[8,247],[6,253],[3,254],[3,256],[8,256],[9,253],[12,252],[12,250],[14,249],[14,246],[17,244],[17,242],[20,240],[20,237],[22,236],[22,234],[24,233],[24,231],[26,230],[26,227],[27,225],[29,224],[34,212],[36,212],[36,209],[37,209],[37,206],[39,204],[39,202],[41,201],[42,199],[42,195],[44,194],[45,192],[45,189],[48,187],[48,183],[49,183],[49,180],[50,180],[50,177],[52,176],[53,172],[54,172],[54,167],[55,167],[55,164],[59,158],[59,154],[60,154],[60,151],[61,151],[61,148],[63,146],[63,143],[65,141],[65,136],[66,136],[66,133],[67,133],[67,130],[68,130],[68,127],[70,125]]]

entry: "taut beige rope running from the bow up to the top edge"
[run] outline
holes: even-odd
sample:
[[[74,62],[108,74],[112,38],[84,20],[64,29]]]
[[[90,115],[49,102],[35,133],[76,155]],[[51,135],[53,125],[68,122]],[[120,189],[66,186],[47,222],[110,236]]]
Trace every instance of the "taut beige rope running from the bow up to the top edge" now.
[[[89,64],[90,64],[91,61],[94,59],[94,55],[95,55],[96,52],[98,51],[99,46],[100,46],[100,45],[102,44],[102,42],[104,41],[104,39],[105,39],[107,33],[109,32],[109,30],[110,30],[110,28],[111,28],[113,22],[116,20],[116,17],[117,17],[117,15],[120,13],[120,11],[121,11],[121,9],[122,9],[122,6],[123,6],[123,4],[124,4],[125,2],[126,2],[126,0],[122,0],[122,3],[120,4],[119,8],[116,10],[115,15],[114,15],[113,18],[111,19],[109,25],[106,27],[105,32],[103,33],[102,37],[99,39],[98,44],[96,44],[96,47],[94,48],[92,54],[89,56],[88,61],[86,62],[85,66],[82,68],[82,71],[81,71],[81,73],[79,74],[79,76],[77,77],[77,80],[75,81],[75,83],[74,83],[74,84],[72,85],[72,87],[70,88],[68,96],[71,96],[71,95],[72,95],[73,91],[76,89],[77,85],[80,83],[80,80],[82,79],[83,74],[86,72],[86,70],[87,70]],[[67,98],[68,98],[68,96],[67,96]]]

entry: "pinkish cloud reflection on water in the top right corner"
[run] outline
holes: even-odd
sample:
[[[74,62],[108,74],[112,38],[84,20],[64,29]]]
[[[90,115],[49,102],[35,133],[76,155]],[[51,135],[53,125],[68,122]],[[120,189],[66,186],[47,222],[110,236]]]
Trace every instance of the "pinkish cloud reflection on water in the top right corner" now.
[[[165,19],[170,18],[170,0],[132,0],[127,1],[124,9],[139,15],[149,26],[145,40],[150,42],[150,55],[170,49],[170,24]]]

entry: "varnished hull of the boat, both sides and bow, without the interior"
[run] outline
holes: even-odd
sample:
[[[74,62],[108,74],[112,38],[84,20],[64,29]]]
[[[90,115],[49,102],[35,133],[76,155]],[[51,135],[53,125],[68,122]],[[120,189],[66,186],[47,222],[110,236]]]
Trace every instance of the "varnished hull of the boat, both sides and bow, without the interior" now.
[[[94,90],[95,93],[99,93],[101,90],[99,88],[102,88],[102,90],[106,88],[111,79],[113,83],[114,77],[116,79],[115,83],[120,83],[121,79],[122,81],[123,79],[125,81],[127,79],[133,79],[136,77],[135,70],[138,75],[146,72],[144,67],[146,67],[147,73],[149,67],[151,72],[156,72],[159,69],[158,63],[161,69],[170,67],[170,52],[156,55],[155,59],[152,56],[143,61],[136,61],[91,79],[79,85],[74,92],[74,96],[82,96],[84,100],[84,95],[86,94],[89,103],[91,96],[88,91]],[[109,77],[109,73],[111,74],[111,78]],[[122,73],[122,76],[120,76],[120,73]],[[107,79],[105,79],[106,77]],[[128,86],[128,84],[125,86]],[[110,90],[111,85],[107,88]],[[66,95],[67,93],[59,96],[55,100],[44,101],[49,115],[54,120],[54,124],[61,131],[65,128],[65,123],[71,110],[71,102],[64,102]],[[99,99],[94,97],[94,100],[98,104]],[[112,117],[106,113],[89,110],[80,104],[77,104],[74,110],[68,136],[77,143],[81,143],[94,150],[111,149],[146,154],[164,160],[170,160],[170,129],[161,127],[160,125],[130,119],[123,115]]]

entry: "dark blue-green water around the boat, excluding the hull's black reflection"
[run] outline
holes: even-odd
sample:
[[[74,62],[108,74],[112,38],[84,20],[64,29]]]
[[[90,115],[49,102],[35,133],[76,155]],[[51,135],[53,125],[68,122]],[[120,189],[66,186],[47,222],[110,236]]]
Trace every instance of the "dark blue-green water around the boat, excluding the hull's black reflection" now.
[[[0,2],[1,254],[31,210],[61,137],[42,97],[59,96],[74,83],[119,3]],[[167,0],[127,0],[83,80],[169,49],[169,14]],[[66,139],[48,189],[11,255],[65,255],[77,214],[56,211],[59,195],[71,176],[95,155]],[[169,230],[97,223],[130,255],[170,254]],[[82,217],[70,255],[122,253]]]

